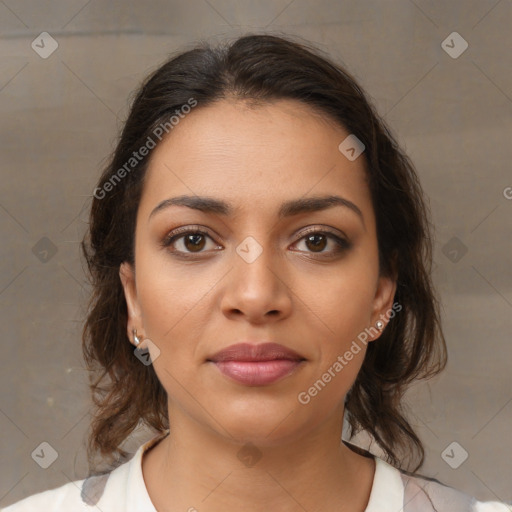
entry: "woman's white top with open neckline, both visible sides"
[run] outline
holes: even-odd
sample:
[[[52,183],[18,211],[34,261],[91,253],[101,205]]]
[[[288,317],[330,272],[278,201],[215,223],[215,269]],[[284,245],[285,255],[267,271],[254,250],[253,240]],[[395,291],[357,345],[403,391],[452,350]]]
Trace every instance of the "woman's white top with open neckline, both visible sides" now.
[[[141,445],[129,461],[108,473],[33,494],[2,511],[157,512],[142,475],[142,455],[167,433]],[[436,480],[409,476],[375,457],[365,512],[512,512],[512,504],[477,501]]]

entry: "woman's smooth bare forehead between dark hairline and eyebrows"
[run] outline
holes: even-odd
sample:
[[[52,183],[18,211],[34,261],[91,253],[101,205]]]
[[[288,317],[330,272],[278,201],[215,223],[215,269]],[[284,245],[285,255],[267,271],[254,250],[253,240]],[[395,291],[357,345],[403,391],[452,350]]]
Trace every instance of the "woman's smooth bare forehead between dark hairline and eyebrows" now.
[[[283,201],[340,195],[366,216],[372,206],[365,161],[338,146],[343,127],[298,101],[258,106],[222,100],[198,105],[151,154],[140,210],[146,217],[178,195],[221,198],[233,213],[276,214]]]

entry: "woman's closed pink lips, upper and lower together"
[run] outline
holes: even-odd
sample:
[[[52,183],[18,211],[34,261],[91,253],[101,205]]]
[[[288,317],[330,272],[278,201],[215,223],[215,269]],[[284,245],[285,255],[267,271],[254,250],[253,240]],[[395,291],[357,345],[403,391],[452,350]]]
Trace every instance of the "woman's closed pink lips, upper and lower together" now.
[[[293,373],[305,358],[277,343],[238,343],[217,352],[208,361],[231,380],[247,386],[264,386]]]

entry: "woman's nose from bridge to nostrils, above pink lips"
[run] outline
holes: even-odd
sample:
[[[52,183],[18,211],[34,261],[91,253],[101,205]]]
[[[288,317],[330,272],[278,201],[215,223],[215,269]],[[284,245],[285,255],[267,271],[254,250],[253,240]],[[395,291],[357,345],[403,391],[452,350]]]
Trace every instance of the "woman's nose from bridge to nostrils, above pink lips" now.
[[[247,247],[249,251],[244,252]],[[241,244],[233,253],[233,267],[226,276],[221,300],[222,312],[230,319],[245,319],[253,324],[282,320],[291,313],[293,296],[285,259],[268,246],[259,246],[261,253],[255,259],[246,257],[254,250],[254,245]]]

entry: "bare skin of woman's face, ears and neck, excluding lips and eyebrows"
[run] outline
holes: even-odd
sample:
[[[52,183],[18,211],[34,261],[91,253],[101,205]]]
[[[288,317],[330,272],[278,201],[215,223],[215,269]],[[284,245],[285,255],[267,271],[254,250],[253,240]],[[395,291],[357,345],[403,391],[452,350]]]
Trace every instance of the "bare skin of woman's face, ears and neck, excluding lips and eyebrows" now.
[[[171,434],[143,458],[157,510],[364,511],[374,462],[340,439],[365,345],[308,404],[297,399],[390,310],[396,289],[379,277],[364,158],[338,150],[348,134],[299,102],[226,99],[198,106],[153,150],[136,272],[123,263],[120,278],[129,339],[136,328],[142,346],[158,347],[154,369],[169,397]],[[185,194],[222,199],[235,212],[171,206],[149,218]],[[355,203],[364,222],[343,206],[278,218],[284,201],[333,194]],[[161,245],[197,225],[209,233],[199,253],[186,237]],[[331,231],[350,248],[337,251],[322,236],[308,243],[305,228]],[[237,252],[249,236],[262,250],[251,263]],[[235,382],[207,361],[248,340],[281,343],[306,361],[266,386]],[[244,446],[260,456],[255,464],[240,460]]]

